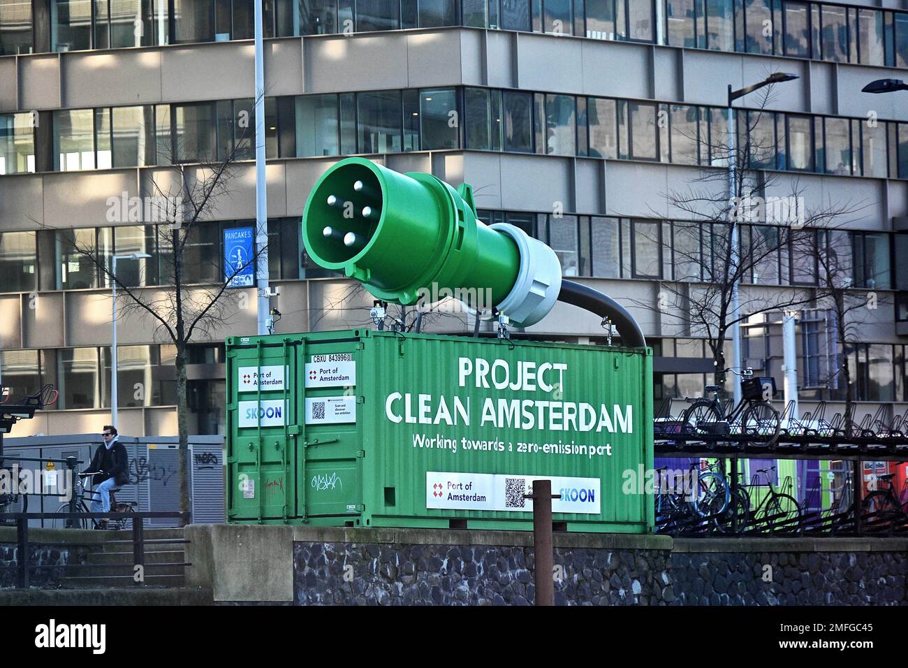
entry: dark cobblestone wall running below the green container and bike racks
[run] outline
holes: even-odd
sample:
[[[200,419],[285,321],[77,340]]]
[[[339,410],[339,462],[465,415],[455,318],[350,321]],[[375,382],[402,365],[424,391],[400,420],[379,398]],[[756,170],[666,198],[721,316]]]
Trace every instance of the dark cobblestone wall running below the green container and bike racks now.
[[[556,548],[555,602],[591,605],[903,604],[901,552]],[[526,605],[533,549],[293,543],[294,603]]]

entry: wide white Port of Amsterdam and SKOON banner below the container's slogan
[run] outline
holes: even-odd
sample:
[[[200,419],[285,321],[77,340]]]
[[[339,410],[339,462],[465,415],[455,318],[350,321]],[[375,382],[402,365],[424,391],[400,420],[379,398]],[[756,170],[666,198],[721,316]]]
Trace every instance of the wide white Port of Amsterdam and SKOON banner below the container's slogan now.
[[[534,480],[548,480],[553,513],[602,513],[598,478],[568,478],[549,475],[518,474],[449,474],[429,471],[426,474],[426,507],[451,510],[496,510],[530,513]]]

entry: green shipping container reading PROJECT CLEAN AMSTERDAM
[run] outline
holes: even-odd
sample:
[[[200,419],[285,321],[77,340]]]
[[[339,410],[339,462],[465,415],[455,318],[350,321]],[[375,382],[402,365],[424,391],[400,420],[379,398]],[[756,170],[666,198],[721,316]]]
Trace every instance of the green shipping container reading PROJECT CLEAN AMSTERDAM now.
[[[227,339],[232,523],[645,533],[649,349],[355,329]]]

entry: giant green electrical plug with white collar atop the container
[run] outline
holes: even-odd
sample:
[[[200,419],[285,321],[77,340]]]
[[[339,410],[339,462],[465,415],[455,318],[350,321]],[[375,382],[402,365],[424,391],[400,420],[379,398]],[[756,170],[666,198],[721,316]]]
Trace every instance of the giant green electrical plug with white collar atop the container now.
[[[477,220],[468,184],[455,190],[431,174],[400,174],[364,158],[341,160],[321,176],[302,238],[316,263],[395,304],[447,289],[479,295],[527,326],[548,314],[561,290],[555,252],[514,225]]]

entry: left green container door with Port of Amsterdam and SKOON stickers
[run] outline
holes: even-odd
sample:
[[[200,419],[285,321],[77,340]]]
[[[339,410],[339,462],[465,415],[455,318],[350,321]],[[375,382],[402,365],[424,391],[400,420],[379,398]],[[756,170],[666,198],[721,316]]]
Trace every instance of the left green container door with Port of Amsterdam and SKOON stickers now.
[[[286,522],[297,516],[293,489],[300,411],[297,344],[259,339],[228,354],[227,516]]]

